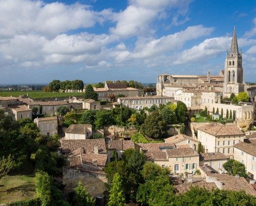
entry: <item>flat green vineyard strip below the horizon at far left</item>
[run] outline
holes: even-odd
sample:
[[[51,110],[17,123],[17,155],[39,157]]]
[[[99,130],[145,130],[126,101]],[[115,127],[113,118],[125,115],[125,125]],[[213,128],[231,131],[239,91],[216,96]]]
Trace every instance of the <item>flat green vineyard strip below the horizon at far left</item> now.
[[[84,95],[83,92],[70,92],[70,93],[63,93],[63,92],[43,92],[43,91],[0,91],[0,96],[13,96],[18,97],[20,95],[26,95],[31,99],[43,99],[43,98],[62,98],[62,97],[70,97],[70,96],[77,96],[82,97]]]

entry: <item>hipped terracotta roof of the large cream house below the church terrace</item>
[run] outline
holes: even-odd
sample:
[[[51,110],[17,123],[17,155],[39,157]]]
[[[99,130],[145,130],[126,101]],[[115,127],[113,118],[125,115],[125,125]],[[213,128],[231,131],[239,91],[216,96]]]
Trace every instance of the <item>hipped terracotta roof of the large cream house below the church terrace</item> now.
[[[244,132],[242,132],[236,125],[222,125],[220,123],[206,124],[199,127],[198,130],[214,136],[244,135]]]

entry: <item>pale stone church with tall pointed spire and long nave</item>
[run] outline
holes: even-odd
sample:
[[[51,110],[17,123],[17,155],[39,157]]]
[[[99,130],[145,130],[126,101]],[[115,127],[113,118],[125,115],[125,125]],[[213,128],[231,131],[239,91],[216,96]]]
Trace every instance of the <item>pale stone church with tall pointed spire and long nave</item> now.
[[[245,91],[249,94],[251,101],[255,100],[256,87],[249,87],[244,80],[242,51],[238,50],[235,27],[230,51],[227,50],[224,70],[220,70],[219,75],[210,75],[208,71],[207,75],[162,74],[157,77],[157,95],[173,96],[180,88],[217,90],[223,97]]]

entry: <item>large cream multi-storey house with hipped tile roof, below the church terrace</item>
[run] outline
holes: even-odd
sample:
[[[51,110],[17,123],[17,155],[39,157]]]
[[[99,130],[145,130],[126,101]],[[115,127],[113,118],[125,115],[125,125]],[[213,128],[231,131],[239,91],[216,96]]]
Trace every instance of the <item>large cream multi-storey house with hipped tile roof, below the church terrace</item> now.
[[[221,152],[233,159],[233,146],[244,141],[245,134],[236,125],[210,123],[198,128],[197,140],[205,152]]]

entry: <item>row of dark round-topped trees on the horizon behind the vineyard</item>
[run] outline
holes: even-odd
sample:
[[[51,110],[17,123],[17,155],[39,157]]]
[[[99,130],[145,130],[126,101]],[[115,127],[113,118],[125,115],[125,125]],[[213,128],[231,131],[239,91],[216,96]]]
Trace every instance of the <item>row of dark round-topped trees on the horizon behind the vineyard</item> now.
[[[60,80],[53,80],[49,83],[49,90],[52,92],[58,92],[59,90],[62,90],[62,92],[65,92],[66,90],[73,90],[73,91],[79,91],[84,89],[84,83],[82,80],[76,79],[73,81],[60,81]],[[48,90],[48,88],[44,89]]]

